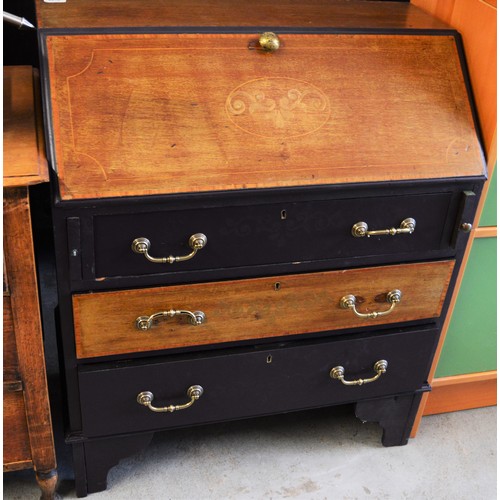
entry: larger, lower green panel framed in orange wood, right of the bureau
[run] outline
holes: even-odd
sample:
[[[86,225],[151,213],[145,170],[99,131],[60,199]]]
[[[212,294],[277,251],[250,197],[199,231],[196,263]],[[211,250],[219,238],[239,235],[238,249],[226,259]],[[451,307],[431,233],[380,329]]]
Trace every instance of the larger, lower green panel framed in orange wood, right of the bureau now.
[[[496,238],[476,238],[436,377],[496,370]]]

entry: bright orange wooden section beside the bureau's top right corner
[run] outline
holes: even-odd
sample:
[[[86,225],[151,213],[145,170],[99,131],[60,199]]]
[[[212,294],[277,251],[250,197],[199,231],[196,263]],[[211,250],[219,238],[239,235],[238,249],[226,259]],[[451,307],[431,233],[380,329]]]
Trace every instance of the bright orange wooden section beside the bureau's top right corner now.
[[[491,144],[497,121],[497,10],[484,0],[411,0],[457,29],[463,38],[485,147]]]

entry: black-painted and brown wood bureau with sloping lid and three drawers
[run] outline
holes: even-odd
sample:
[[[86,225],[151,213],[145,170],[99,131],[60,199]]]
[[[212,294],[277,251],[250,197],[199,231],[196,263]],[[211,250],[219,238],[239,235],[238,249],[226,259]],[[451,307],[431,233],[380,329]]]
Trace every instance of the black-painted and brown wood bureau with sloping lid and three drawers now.
[[[352,403],[406,444],[485,180],[459,34],[91,3],[37,6],[77,494],[162,429]]]

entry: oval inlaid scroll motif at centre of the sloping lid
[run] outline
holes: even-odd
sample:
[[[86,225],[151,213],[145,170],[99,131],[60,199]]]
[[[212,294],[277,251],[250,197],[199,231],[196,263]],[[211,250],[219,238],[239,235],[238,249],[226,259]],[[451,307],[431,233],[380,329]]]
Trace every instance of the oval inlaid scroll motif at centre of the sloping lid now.
[[[309,82],[257,78],[236,87],[226,112],[240,129],[261,137],[297,137],[319,130],[330,118],[325,93]]]

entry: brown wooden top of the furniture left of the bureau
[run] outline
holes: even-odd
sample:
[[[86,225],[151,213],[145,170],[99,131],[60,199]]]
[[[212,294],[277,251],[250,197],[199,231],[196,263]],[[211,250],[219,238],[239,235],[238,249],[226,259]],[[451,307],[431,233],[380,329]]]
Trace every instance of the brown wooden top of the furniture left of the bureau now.
[[[4,68],[4,186],[26,186],[48,180],[42,124],[36,112],[36,92],[38,87],[33,85],[31,66]]]

